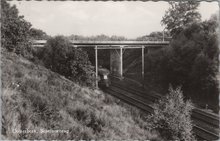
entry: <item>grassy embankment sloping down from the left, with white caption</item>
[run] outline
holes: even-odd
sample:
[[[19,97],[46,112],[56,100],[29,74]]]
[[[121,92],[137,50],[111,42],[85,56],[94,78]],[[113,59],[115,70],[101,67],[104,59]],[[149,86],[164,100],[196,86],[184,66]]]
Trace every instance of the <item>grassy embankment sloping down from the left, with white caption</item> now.
[[[2,52],[2,134],[6,139],[158,139],[140,112],[15,54]],[[69,133],[13,133],[13,130]]]

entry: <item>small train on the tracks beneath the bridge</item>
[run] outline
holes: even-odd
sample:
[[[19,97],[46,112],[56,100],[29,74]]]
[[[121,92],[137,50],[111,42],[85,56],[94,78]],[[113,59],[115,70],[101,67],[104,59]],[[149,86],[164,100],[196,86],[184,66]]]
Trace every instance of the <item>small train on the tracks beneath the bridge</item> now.
[[[109,78],[110,71],[106,68],[99,67],[98,75],[100,77],[100,80],[98,82],[98,86],[100,88],[108,88],[111,84],[111,81]]]

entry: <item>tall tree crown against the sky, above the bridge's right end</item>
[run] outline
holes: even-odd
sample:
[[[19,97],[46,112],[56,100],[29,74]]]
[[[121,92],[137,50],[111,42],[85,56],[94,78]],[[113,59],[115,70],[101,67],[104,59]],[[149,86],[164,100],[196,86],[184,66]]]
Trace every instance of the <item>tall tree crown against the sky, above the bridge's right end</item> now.
[[[165,12],[161,23],[170,31],[171,36],[175,36],[191,23],[201,21],[201,15],[197,12],[198,2],[171,1],[169,5],[170,8]]]

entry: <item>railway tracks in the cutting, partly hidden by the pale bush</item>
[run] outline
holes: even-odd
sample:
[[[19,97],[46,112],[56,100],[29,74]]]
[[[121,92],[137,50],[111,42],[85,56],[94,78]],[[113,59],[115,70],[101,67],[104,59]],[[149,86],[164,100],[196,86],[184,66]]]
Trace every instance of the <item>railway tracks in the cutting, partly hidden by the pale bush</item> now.
[[[147,113],[153,112],[152,104],[161,96],[157,94],[146,94],[140,90],[135,90],[131,87],[125,87],[119,83],[113,85],[106,90],[107,93],[129,103]],[[194,122],[193,131],[201,140],[218,140],[219,139],[219,119],[205,113],[199,109],[193,110],[192,119]],[[203,125],[203,126],[201,126]],[[205,126],[204,126],[205,125]],[[212,130],[214,129],[214,130]]]

